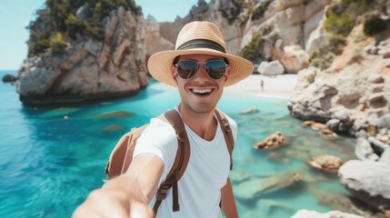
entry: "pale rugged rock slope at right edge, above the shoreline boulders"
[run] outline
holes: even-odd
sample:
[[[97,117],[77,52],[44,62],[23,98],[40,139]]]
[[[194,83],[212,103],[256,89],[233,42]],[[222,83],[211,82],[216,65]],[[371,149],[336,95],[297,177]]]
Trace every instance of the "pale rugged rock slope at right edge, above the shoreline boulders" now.
[[[291,114],[358,136],[390,113],[390,31],[359,41],[362,31],[362,25],[355,27],[328,69],[299,72]]]

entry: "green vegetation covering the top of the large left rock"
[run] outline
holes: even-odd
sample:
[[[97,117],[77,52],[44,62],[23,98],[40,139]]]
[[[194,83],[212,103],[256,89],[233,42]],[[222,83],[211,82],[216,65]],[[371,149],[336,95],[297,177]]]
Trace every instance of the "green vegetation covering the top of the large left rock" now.
[[[27,26],[28,55],[62,54],[68,42],[80,38],[103,40],[104,19],[118,6],[142,13],[133,0],[46,0]]]

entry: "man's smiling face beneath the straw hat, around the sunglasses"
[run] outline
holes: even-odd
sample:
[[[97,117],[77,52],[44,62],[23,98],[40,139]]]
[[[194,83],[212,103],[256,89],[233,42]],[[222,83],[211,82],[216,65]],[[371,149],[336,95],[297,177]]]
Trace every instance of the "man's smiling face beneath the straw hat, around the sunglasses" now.
[[[195,113],[210,113],[215,109],[224,91],[224,85],[228,78],[229,66],[226,67],[224,76],[220,79],[213,79],[205,72],[205,64],[210,60],[224,60],[224,57],[209,54],[188,54],[180,56],[181,60],[202,62],[199,70],[189,78],[183,79],[177,74],[175,65],[172,67],[172,74],[179,89],[182,99],[181,110],[191,110]]]

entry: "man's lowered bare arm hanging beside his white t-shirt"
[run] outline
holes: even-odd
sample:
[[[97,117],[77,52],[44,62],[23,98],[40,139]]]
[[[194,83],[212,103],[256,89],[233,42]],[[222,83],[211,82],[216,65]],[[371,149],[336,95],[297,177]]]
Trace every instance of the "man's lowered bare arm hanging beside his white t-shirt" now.
[[[225,186],[221,190],[221,208],[226,218],[238,217],[237,207],[235,206],[235,196],[233,195],[232,183],[230,177],[227,177]]]

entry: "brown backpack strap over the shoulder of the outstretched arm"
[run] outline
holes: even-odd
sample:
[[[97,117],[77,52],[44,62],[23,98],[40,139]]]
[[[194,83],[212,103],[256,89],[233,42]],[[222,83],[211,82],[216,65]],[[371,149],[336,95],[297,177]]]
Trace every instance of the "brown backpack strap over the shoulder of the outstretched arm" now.
[[[176,110],[170,110],[164,114],[164,117],[159,117],[165,122],[168,122],[174,127],[175,133],[177,136],[177,152],[175,156],[175,162],[166,175],[166,179],[163,183],[160,184],[160,187],[156,193],[155,205],[153,210],[155,214],[157,213],[158,207],[166,198],[166,193],[172,187],[173,194],[173,210],[174,212],[180,210],[179,198],[177,193],[177,181],[185,173],[185,168],[190,159],[190,144],[188,141],[188,135],[185,131],[185,124],[183,123],[182,117]]]

